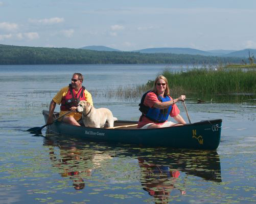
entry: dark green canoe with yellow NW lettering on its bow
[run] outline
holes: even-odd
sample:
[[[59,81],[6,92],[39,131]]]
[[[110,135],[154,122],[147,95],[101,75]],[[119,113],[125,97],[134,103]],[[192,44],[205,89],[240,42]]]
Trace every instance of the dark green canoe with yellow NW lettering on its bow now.
[[[45,123],[49,111],[43,110]],[[58,117],[58,113],[54,113]],[[129,143],[153,147],[216,150],[220,143],[222,120],[201,121],[184,126],[137,129],[135,121],[116,121],[114,128],[90,128],[54,122],[48,129],[55,134],[111,143]]]

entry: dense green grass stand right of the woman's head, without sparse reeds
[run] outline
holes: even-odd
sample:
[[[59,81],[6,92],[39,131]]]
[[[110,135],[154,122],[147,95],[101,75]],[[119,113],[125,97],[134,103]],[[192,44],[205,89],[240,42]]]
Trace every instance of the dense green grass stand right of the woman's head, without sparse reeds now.
[[[165,70],[171,89],[184,93],[238,94],[256,93],[256,71],[240,69],[193,69],[187,72]],[[153,81],[149,82],[153,84]]]

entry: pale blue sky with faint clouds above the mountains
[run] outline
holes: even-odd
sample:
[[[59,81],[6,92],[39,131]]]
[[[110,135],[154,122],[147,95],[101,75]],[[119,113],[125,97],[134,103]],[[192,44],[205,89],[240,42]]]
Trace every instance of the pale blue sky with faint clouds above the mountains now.
[[[0,0],[0,44],[256,48],[255,0]]]

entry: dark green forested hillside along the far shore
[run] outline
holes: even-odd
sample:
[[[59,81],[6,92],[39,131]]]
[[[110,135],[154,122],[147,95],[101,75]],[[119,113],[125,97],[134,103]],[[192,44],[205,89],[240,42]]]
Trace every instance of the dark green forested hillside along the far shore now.
[[[247,60],[247,59],[246,59]],[[0,45],[0,65],[35,64],[219,64],[240,63],[240,57],[170,53],[94,51]]]

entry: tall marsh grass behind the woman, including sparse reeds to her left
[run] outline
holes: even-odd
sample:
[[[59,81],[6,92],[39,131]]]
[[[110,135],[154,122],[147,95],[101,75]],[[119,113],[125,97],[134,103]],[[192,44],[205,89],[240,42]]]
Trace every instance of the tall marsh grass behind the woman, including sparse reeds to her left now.
[[[170,69],[162,73],[169,82],[171,96],[190,95],[193,100],[204,99],[207,102],[235,102],[254,100],[256,94],[256,71],[226,69],[224,66],[208,66],[172,72]],[[104,97],[138,100],[151,90],[153,80],[137,86],[119,86],[107,89]],[[219,101],[222,99],[221,101]]]

